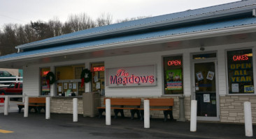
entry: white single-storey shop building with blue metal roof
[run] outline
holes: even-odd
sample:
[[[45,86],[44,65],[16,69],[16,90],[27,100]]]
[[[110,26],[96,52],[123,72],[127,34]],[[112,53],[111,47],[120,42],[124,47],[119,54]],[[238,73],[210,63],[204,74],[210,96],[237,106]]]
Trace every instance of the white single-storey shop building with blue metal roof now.
[[[0,57],[3,68],[23,70],[23,92],[51,96],[52,113],[72,113],[71,94],[198,101],[198,120],[244,122],[243,102],[256,123],[256,1],[244,0],[180,13],[90,28],[17,46]],[[80,74],[92,70],[83,84]],[[56,82],[47,85],[53,72]],[[61,97],[62,96],[62,97]],[[129,113],[127,113],[129,115]],[[152,117],[164,117],[152,113]]]

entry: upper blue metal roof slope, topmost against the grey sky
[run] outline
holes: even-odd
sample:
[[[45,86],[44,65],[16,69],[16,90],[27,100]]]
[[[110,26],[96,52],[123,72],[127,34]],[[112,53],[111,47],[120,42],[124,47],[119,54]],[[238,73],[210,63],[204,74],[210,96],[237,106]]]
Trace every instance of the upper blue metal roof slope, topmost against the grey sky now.
[[[184,12],[180,12],[180,13],[172,13],[172,14],[168,14],[168,15],[160,15],[157,17],[149,17],[149,18],[145,18],[145,19],[138,19],[138,20],[134,20],[131,22],[123,22],[123,23],[119,23],[119,24],[111,24],[108,26],[100,26],[97,28],[90,28],[90,29],[86,29],[83,31],[78,31],[75,33],[69,33],[66,35],[60,35],[54,38],[48,38],[45,40],[39,40],[36,42],[31,42],[28,44],[22,44],[18,47],[22,47],[22,46],[26,46],[29,44],[36,44],[38,42],[49,42],[51,40],[59,40],[59,39],[66,39],[66,38],[71,38],[73,36],[79,36],[79,35],[85,35],[85,34],[95,34],[95,33],[101,33],[101,32],[106,32],[106,31],[115,31],[118,30],[120,28],[132,28],[134,26],[145,26],[147,24],[154,24],[154,23],[161,23],[161,22],[166,22],[166,21],[172,21],[175,19],[180,19],[180,18],[184,18],[184,17],[195,17],[198,15],[206,15],[208,13],[220,13],[221,11],[227,11],[227,10],[232,10],[232,9],[236,9],[236,8],[245,8],[248,6],[256,6],[256,0],[245,0],[245,1],[236,1],[233,3],[226,3],[226,4],[222,4],[222,5],[218,5],[218,6],[211,6],[211,7],[206,7],[206,8],[199,8],[199,9],[195,9],[195,10],[187,10]]]

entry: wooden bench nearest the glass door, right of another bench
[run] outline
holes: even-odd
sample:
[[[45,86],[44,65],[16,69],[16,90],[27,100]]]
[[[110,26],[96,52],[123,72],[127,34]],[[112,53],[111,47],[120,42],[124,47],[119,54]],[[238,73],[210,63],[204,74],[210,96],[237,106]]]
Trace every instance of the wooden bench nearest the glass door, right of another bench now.
[[[173,99],[147,99],[150,101],[150,111],[164,111],[164,122],[168,119],[168,115],[170,115],[170,119],[173,119]],[[161,108],[159,108],[159,106]],[[158,107],[158,108],[157,108]],[[164,108],[167,107],[167,108]],[[141,112],[141,120],[143,120],[144,109],[138,108]]]

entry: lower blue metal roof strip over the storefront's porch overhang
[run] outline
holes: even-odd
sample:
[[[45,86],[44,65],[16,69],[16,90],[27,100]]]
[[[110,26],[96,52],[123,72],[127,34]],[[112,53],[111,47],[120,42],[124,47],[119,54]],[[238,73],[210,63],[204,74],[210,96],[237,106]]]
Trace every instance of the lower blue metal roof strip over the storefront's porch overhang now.
[[[152,39],[152,38],[159,38],[164,36],[171,36],[171,35],[182,35],[186,33],[196,33],[201,31],[212,31],[215,29],[222,29],[222,28],[230,28],[230,27],[238,27],[238,26],[245,26],[255,24],[256,25],[256,17],[248,17],[244,19],[235,19],[225,22],[215,22],[210,24],[201,24],[195,26],[187,26],[181,28],[171,28],[164,31],[155,31],[150,33],[141,33],[138,35],[126,35],[122,37],[116,38],[108,38],[102,40],[94,40],[89,42],[81,42],[77,44],[66,44],[59,47],[50,47],[45,49],[37,49],[31,51],[24,51],[17,54],[9,54],[6,56],[1,56],[0,60],[4,60],[7,58],[18,58],[20,56],[29,56],[29,55],[38,55],[38,54],[45,54],[55,51],[65,51],[71,49],[80,49],[85,47],[92,47],[92,46],[100,46],[104,44],[114,44],[118,42],[131,42],[135,40],[144,40],[144,39]]]

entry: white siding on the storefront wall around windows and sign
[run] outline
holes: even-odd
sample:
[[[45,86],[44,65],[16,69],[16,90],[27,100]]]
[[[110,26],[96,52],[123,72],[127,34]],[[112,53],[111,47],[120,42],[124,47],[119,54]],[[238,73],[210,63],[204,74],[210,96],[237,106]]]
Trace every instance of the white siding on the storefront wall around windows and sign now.
[[[254,47],[255,42],[250,42],[246,44],[232,44],[232,45],[222,45],[215,47],[205,47],[204,51],[217,51],[218,53],[218,85],[220,95],[227,95],[226,86],[226,69],[225,69],[225,50],[235,49],[241,47]],[[162,96],[163,95],[163,74],[162,74],[162,56],[172,56],[176,54],[183,55],[183,81],[184,81],[184,95],[191,95],[191,60],[190,54],[200,52],[199,47],[192,49],[179,49],[173,51],[161,51],[147,54],[133,54],[125,56],[113,56],[107,58],[95,58],[86,60],[76,60],[76,61],[66,61],[62,63],[50,63],[44,65],[29,65],[28,67],[23,67],[24,69],[24,94],[26,95],[39,95],[39,68],[40,67],[51,67],[54,70],[55,66],[60,65],[74,65],[85,63],[86,68],[88,68],[89,63],[94,62],[104,62],[106,68],[111,67],[130,67],[138,65],[156,65],[157,73],[157,85],[155,86],[141,86],[141,87],[120,87],[120,88],[108,88],[106,87],[106,96],[111,97],[148,97],[148,96]],[[202,51],[201,51],[202,52]],[[90,86],[86,85],[87,88]],[[86,91],[89,91],[88,89]],[[53,91],[53,90],[52,90]]]

